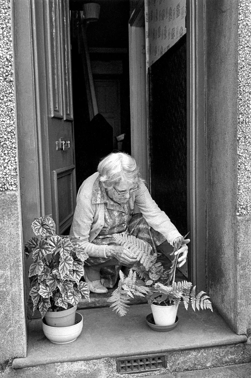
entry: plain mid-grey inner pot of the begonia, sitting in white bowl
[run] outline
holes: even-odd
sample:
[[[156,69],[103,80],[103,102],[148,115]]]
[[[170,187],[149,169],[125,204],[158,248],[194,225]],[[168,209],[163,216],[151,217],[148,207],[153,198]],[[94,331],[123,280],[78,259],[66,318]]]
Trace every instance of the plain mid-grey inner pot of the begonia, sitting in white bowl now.
[[[77,307],[68,310],[45,313],[45,322],[51,327],[69,327],[75,324],[75,312]]]

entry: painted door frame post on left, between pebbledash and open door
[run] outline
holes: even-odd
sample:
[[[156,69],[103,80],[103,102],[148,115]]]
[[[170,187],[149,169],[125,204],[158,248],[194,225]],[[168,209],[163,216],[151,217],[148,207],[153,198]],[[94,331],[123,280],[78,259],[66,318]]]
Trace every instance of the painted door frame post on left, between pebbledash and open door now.
[[[47,101],[39,96],[46,88],[38,70],[45,65],[44,50],[36,48],[37,38],[43,38],[42,19],[35,19],[38,7],[42,2],[36,0],[12,0],[11,7],[23,240],[32,236],[34,218],[52,213],[48,128],[42,112]]]

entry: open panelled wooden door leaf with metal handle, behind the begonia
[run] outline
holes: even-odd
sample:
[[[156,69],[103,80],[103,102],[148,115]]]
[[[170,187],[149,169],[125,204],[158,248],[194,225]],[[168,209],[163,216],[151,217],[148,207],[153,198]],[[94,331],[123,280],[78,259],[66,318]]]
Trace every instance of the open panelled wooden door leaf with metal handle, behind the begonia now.
[[[68,0],[43,2],[43,25],[52,217],[62,234],[71,225],[76,196]]]

